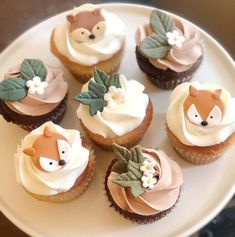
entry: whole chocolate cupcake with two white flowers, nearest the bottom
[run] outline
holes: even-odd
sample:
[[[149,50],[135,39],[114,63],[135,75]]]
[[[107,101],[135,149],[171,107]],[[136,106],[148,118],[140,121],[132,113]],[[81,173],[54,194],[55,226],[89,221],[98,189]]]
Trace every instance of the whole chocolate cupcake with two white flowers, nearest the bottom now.
[[[115,159],[105,176],[111,206],[138,224],[154,222],[175,206],[183,183],[179,165],[160,150],[114,144]]]

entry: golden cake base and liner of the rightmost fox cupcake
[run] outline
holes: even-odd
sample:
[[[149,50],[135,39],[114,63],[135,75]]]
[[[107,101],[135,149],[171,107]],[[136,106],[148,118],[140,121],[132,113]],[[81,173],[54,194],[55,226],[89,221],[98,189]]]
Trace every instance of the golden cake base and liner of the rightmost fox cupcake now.
[[[183,160],[195,165],[205,165],[219,159],[235,140],[235,133],[233,133],[224,142],[212,146],[199,147],[181,143],[168,127],[167,135],[179,156]]]

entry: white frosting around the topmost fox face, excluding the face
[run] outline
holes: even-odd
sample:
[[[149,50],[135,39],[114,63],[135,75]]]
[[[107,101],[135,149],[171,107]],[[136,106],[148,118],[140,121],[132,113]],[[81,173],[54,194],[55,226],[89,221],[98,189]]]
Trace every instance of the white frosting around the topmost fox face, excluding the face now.
[[[96,8],[98,8],[97,5],[84,4],[74,8],[72,14],[75,15],[81,11],[93,11]],[[102,15],[106,22],[105,35],[103,39],[92,44],[74,41],[69,32],[68,22],[57,26],[54,31],[54,41],[59,52],[71,61],[86,66],[92,66],[109,59],[118,52],[125,39],[124,24],[116,15],[103,9]]]

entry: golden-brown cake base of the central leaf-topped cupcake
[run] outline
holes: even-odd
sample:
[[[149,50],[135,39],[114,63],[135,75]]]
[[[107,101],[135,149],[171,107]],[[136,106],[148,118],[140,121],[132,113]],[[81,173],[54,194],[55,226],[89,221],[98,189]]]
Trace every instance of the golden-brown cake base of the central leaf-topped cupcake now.
[[[131,132],[128,132],[122,136],[116,136],[113,138],[104,138],[103,136],[99,134],[95,134],[91,132],[80,120],[81,127],[86,132],[88,137],[99,147],[101,147],[104,150],[112,151],[112,145],[113,143],[117,143],[118,145],[125,146],[127,148],[131,148],[139,143],[139,141],[144,136],[146,130],[148,129],[153,116],[153,106],[151,101],[149,100],[148,107],[146,109],[146,115],[142,123],[132,130]]]

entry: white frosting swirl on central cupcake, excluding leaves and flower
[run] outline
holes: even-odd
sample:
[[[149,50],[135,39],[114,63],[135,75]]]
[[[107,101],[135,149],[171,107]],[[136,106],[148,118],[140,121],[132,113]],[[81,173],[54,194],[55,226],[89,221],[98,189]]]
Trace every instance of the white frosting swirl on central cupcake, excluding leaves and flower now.
[[[149,97],[143,93],[144,86],[135,80],[127,81],[125,76],[119,77],[121,87],[124,90],[123,103],[116,106],[104,107],[96,115],[89,114],[89,106],[80,104],[77,116],[82,123],[93,133],[104,138],[122,136],[136,127],[143,121]],[[88,91],[88,83],[83,85],[82,92]]]

